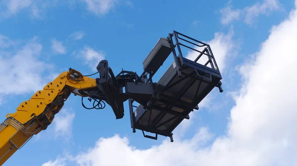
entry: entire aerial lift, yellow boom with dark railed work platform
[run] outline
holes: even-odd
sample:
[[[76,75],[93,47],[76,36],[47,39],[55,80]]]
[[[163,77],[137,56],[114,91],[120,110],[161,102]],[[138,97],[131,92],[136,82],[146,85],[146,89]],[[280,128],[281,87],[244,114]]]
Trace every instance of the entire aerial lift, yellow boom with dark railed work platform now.
[[[185,52],[191,52],[191,56],[185,57]],[[155,82],[155,74],[169,57],[171,65]],[[115,75],[107,60],[102,60],[96,67],[97,75],[93,74],[98,76],[96,79],[71,68],[61,73],[22,102],[15,113],[7,114],[0,124],[0,165],[54,121],[71,93],[82,97],[86,109],[104,109],[108,105],[115,119],[124,117],[123,103],[128,101],[133,132],[141,130],[151,139],[168,136],[173,142],[173,130],[190,119],[189,114],[198,110],[203,98],[214,87],[223,92],[222,77],[210,46],[176,31],[167,38],[159,38],[143,67],[140,76],[123,69]],[[93,107],[85,106],[85,97],[94,101]]]

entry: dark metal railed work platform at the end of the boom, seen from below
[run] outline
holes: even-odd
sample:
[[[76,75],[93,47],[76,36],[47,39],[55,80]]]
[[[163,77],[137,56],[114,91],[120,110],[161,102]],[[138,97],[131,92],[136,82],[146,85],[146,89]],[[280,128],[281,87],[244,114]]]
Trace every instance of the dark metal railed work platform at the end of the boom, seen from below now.
[[[196,59],[185,58],[182,48],[197,52]],[[141,104],[135,106],[132,99],[129,99],[129,106],[133,132],[140,129],[145,137],[157,139],[159,134],[173,141],[172,131],[184,119],[190,118],[191,111],[198,110],[201,100],[214,87],[218,87],[220,92],[223,90],[220,81],[222,77],[210,46],[176,31],[169,34],[168,38],[160,38],[148,54],[141,78],[147,78],[147,82],[152,81],[152,76],[170,54],[173,54],[173,63],[154,84],[158,93],[153,94],[153,99],[145,107]],[[206,62],[198,63],[203,56]],[[144,131],[155,135],[146,135]]]

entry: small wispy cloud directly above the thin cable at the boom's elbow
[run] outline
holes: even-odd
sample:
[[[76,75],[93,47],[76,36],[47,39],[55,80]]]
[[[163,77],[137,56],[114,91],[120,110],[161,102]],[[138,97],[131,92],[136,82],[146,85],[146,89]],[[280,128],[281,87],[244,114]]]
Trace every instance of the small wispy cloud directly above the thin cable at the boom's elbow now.
[[[105,58],[102,51],[96,51],[91,47],[85,46],[84,49],[78,52],[73,52],[77,58],[83,59],[85,65],[89,65],[92,71],[97,71],[96,67],[99,62]]]

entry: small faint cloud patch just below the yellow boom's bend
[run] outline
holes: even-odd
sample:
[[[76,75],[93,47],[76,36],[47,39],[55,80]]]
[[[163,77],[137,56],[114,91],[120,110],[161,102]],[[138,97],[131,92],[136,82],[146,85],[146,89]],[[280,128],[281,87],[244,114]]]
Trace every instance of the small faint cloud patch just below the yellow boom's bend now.
[[[72,137],[72,123],[75,117],[75,113],[61,109],[54,118],[54,135],[55,138],[63,137],[69,139]]]

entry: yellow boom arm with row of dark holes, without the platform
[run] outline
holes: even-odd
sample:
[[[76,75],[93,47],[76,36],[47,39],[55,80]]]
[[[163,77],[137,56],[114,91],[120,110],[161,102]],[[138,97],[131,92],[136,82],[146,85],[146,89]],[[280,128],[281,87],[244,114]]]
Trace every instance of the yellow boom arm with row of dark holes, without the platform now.
[[[60,74],[37,91],[29,100],[22,102],[16,112],[7,114],[0,124],[0,165],[32,138],[46,129],[54,115],[64,106],[71,93],[87,97],[78,90],[96,89],[96,80],[84,77],[76,70]]]

